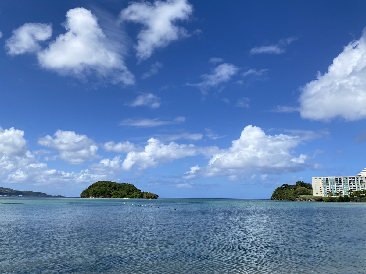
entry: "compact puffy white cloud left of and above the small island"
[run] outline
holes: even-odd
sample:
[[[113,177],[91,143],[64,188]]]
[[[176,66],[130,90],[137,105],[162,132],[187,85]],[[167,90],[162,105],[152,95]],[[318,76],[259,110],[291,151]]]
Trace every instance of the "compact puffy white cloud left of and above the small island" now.
[[[83,164],[84,161],[99,157],[97,144],[86,135],[57,130],[53,136],[55,138],[49,135],[39,138],[38,144],[56,149],[60,153],[60,158],[69,164]]]

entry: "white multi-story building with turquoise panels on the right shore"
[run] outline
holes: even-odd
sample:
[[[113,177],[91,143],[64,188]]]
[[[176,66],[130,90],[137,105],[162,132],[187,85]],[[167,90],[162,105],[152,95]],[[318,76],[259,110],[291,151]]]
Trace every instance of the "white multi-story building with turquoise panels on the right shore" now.
[[[340,196],[347,195],[348,190],[357,191],[364,190],[366,182],[366,168],[356,176],[327,176],[327,177],[311,177],[313,184],[313,195],[329,196],[339,193]]]

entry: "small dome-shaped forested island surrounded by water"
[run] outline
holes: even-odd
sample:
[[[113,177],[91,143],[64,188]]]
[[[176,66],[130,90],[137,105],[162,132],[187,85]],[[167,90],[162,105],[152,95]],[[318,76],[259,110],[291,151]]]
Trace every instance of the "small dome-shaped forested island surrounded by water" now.
[[[158,195],[150,192],[143,192],[133,184],[116,183],[109,181],[98,181],[91,184],[80,194],[81,198],[136,198],[136,199],[157,199]]]

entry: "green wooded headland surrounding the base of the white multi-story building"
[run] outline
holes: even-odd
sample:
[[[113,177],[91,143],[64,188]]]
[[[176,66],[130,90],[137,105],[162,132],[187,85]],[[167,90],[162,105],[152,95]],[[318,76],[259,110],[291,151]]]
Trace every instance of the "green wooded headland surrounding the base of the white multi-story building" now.
[[[347,191],[348,195],[328,193],[327,197],[314,196],[311,184],[298,181],[295,184],[283,184],[273,191],[271,200],[276,201],[317,201],[317,202],[366,202],[366,191]]]

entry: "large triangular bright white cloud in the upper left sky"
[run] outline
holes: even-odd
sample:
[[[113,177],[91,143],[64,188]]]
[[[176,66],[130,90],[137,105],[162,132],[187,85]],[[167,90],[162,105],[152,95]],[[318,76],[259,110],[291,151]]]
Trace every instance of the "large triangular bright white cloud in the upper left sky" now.
[[[45,50],[38,52],[43,68],[59,73],[85,77],[90,71],[111,79],[113,83],[134,84],[134,75],[128,71],[123,57],[108,41],[98,25],[97,18],[85,8],[70,9],[60,34]]]

